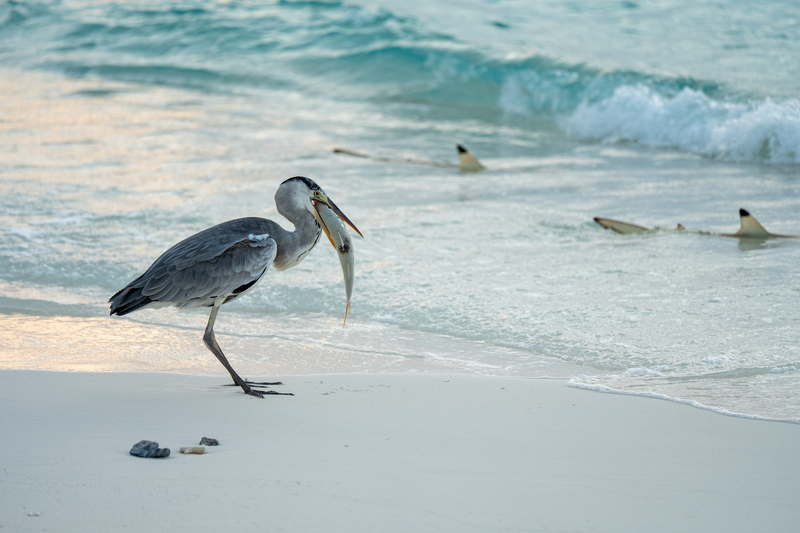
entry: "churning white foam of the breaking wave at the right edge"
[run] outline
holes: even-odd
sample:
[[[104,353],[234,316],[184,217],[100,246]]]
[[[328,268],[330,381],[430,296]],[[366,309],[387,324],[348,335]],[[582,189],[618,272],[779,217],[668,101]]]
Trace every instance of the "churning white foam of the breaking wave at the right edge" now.
[[[800,162],[800,101],[794,98],[742,104],[689,88],[670,97],[643,85],[619,86],[602,101],[583,101],[562,126],[580,139],[635,141],[725,161]]]

